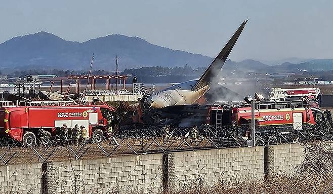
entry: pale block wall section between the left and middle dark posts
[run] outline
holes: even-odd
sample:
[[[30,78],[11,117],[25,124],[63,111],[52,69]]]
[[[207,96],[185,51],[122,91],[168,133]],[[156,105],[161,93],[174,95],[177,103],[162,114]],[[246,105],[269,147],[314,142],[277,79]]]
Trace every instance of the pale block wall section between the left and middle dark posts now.
[[[49,193],[76,193],[75,189],[94,193],[112,190],[156,193],[162,183],[162,154],[56,162],[52,165],[48,176],[56,177],[56,181],[48,183]]]

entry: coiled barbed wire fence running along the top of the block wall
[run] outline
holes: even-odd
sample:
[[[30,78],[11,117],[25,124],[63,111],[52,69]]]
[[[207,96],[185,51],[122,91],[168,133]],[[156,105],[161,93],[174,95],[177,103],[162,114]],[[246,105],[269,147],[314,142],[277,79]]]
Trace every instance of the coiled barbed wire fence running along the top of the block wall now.
[[[63,160],[81,160],[109,158],[123,154],[150,154],[185,150],[219,149],[227,147],[251,146],[251,131],[248,126],[214,126],[202,125],[197,134],[191,128],[172,128],[165,138],[160,126],[132,126],[121,129],[102,143],[94,144],[94,139],[80,139],[79,145],[67,139],[51,139],[43,143],[24,147],[20,142],[10,138],[0,139],[0,165],[21,163],[45,163]],[[302,130],[290,130],[288,127],[260,126],[256,128],[256,144],[269,146],[281,143],[300,143],[332,140],[333,131],[326,123],[315,127],[304,125]]]

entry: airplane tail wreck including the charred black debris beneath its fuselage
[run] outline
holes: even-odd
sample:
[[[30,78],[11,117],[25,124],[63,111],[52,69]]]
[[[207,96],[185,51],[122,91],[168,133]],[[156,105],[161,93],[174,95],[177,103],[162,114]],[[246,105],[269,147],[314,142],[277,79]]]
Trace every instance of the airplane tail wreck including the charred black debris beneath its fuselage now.
[[[149,97],[144,96],[139,102],[139,120],[143,123],[150,124],[170,123],[172,122],[172,118],[179,120],[179,115],[188,114],[191,114],[191,117],[193,117],[193,115],[196,114],[193,112],[202,109],[203,107],[200,107],[198,102],[202,100],[203,95],[210,90],[214,79],[221,71],[246,22],[247,20],[239,26],[229,42],[199,79],[174,85]],[[178,116],[176,114],[178,114]],[[187,117],[187,120],[191,117]]]

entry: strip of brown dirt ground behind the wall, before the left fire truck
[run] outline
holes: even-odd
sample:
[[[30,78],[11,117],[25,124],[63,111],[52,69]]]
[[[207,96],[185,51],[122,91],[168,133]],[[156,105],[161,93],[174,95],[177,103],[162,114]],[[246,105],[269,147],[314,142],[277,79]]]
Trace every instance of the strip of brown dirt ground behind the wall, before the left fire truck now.
[[[163,145],[162,138],[131,138],[117,140],[119,145],[114,141],[111,143],[105,142],[100,144],[104,149],[101,149],[97,144],[81,145],[76,147],[74,145],[64,146],[50,146],[50,147],[35,147],[35,148],[0,148],[0,156],[7,164],[22,164],[22,163],[37,163],[45,161],[66,161],[76,159],[97,159],[106,158],[106,154],[111,156],[120,156],[128,154],[142,154],[142,153],[162,153],[164,151],[177,151],[177,150],[192,150],[193,149],[207,149],[212,148],[214,145],[205,139],[198,141],[197,145],[190,140],[183,141],[181,138],[173,138]],[[74,153],[75,152],[75,153]],[[41,158],[38,156],[41,156]],[[78,158],[77,158],[78,157]],[[5,165],[5,162],[0,160],[0,165]]]

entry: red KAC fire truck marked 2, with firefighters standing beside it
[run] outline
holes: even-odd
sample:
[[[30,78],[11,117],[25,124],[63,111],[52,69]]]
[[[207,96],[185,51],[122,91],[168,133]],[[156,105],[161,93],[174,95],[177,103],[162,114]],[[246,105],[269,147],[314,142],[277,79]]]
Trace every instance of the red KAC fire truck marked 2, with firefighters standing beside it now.
[[[93,137],[94,142],[101,142],[104,140],[108,112],[114,114],[115,111],[106,104],[3,106],[0,108],[0,137],[11,137],[25,146],[31,146],[36,143],[41,127],[48,132],[48,136],[54,136],[56,128],[66,124],[71,129],[77,124],[89,131],[89,137]]]

